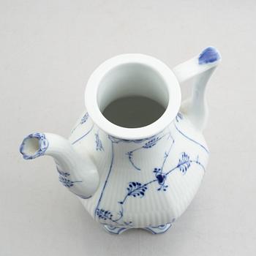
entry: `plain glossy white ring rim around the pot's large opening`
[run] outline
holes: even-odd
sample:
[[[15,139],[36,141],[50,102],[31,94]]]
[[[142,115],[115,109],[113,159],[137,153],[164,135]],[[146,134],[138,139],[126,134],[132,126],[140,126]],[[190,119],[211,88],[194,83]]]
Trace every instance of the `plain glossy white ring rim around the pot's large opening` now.
[[[157,121],[154,121],[145,127],[120,127],[108,121],[99,109],[97,100],[99,84],[110,70],[123,64],[143,64],[146,67],[153,69],[154,72],[157,72],[165,82],[165,87],[168,93],[167,108]],[[94,70],[86,85],[85,104],[86,110],[92,121],[94,121],[94,123],[108,135],[125,140],[140,140],[157,135],[157,133],[161,132],[173,121],[181,106],[181,89],[176,75],[174,75],[173,71],[167,67],[165,63],[152,56],[139,53],[128,53],[108,59]]]

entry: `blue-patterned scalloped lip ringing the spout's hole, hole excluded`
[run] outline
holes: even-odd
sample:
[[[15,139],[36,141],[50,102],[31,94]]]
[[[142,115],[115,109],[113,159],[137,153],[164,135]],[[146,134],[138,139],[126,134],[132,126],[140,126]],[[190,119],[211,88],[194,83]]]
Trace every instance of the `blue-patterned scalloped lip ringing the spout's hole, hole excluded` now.
[[[30,138],[38,139],[38,150],[34,154],[26,154],[26,152],[24,151],[26,140]],[[20,153],[23,154],[23,159],[34,159],[34,158],[43,156],[48,146],[49,146],[49,142],[45,138],[45,135],[41,132],[34,132],[28,135],[26,138],[24,138],[23,142],[20,145]]]

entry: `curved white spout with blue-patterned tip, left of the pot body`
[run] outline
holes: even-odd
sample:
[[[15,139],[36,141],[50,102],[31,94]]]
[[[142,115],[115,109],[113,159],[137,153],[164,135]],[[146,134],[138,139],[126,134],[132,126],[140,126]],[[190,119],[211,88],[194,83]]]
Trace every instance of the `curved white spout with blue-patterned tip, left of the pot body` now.
[[[65,138],[52,133],[32,133],[20,145],[24,159],[43,155],[53,157],[59,172],[59,181],[70,192],[87,199],[99,184],[97,168],[89,157],[80,157]]]

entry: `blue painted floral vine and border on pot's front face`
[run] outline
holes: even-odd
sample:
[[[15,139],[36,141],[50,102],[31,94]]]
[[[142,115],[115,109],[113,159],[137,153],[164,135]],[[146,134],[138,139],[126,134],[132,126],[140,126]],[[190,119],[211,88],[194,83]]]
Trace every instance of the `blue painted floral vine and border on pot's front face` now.
[[[180,121],[182,119],[183,119],[183,116],[179,115],[178,116],[178,121]],[[120,140],[120,139],[116,139],[116,138],[113,139],[113,137],[110,137],[110,136],[109,136],[109,138],[110,138],[110,141],[112,143],[112,161],[111,161],[111,164],[110,164],[110,170],[109,170],[108,176],[110,175],[110,171],[111,171],[112,166],[113,166],[113,144],[114,143],[120,143],[120,142],[130,143],[129,140]],[[132,166],[135,167],[136,170],[140,170],[140,168],[138,168],[134,164],[134,162],[132,162],[132,154],[135,151],[138,151],[140,149],[143,149],[143,148],[147,149],[147,148],[151,148],[151,147],[155,146],[157,144],[157,142],[159,140],[161,140],[162,138],[166,138],[166,140],[170,141],[170,147],[168,148],[167,151],[165,151],[165,154],[164,154],[163,160],[162,160],[162,165],[160,167],[154,167],[153,168],[152,173],[154,173],[154,176],[152,177],[152,179],[150,181],[148,181],[146,183],[141,183],[140,181],[130,181],[128,183],[128,186],[126,188],[126,193],[125,193],[123,199],[118,201],[118,204],[120,206],[120,211],[118,212],[118,217],[117,218],[113,217],[116,214],[113,214],[112,211],[99,208],[99,204],[100,204],[101,199],[102,199],[102,194],[103,194],[103,191],[105,189],[105,187],[103,187],[102,194],[99,198],[97,207],[95,209],[95,216],[97,216],[99,218],[100,223],[102,223],[103,225],[108,225],[107,224],[108,222],[105,222],[105,221],[110,221],[110,222],[113,222],[113,223],[115,223],[116,225],[118,225],[120,227],[122,227],[122,226],[132,227],[132,222],[127,223],[127,222],[123,221],[124,204],[127,202],[128,198],[135,198],[135,197],[143,198],[143,197],[145,197],[146,192],[148,191],[148,189],[151,188],[152,184],[158,184],[159,185],[159,187],[157,187],[157,191],[165,192],[167,190],[167,187],[168,187],[168,185],[166,184],[167,178],[170,175],[170,173],[172,173],[174,170],[179,170],[183,175],[185,175],[187,173],[187,170],[189,170],[189,167],[191,167],[192,164],[200,165],[200,167],[202,167],[202,169],[205,170],[205,167],[199,161],[199,157],[197,157],[196,159],[191,159],[189,154],[187,154],[186,152],[181,152],[181,155],[178,158],[177,164],[173,168],[171,168],[170,170],[165,170],[165,162],[166,162],[167,158],[170,155],[170,151],[173,148],[173,145],[175,144],[175,140],[174,140],[174,138],[173,138],[173,136],[171,135],[170,132],[167,132],[167,133],[162,134],[162,135],[156,135],[156,136],[148,138],[146,140],[140,140],[139,143],[142,143],[142,145],[138,146],[134,150],[129,151],[127,153],[128,156],[129,156],[129,162],[132,163]],[[107,182],[108,182],[108,177],[106,179],[105,185],[107,184]],[[157,227],[157,228],[159,228],[159,227]]]

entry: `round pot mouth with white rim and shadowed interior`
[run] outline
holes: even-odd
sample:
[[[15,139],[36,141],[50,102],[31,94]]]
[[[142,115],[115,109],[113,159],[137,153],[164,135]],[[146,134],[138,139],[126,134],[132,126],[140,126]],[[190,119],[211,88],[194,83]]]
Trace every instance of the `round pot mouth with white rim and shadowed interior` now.
[[[161,61],[125,54],[94,71],[85,99],[89,116],[100,129],[115,138],[140,140],[170,124],[180,108],[181,91]]]

